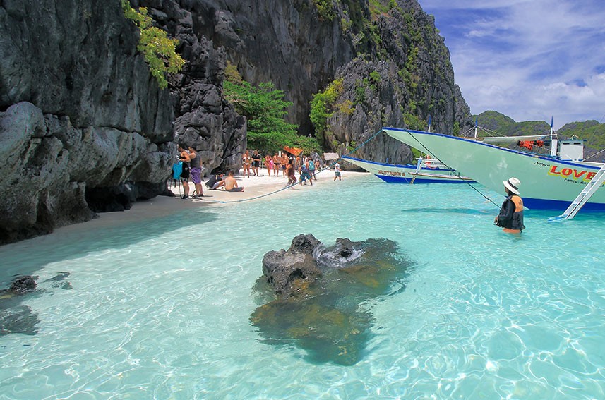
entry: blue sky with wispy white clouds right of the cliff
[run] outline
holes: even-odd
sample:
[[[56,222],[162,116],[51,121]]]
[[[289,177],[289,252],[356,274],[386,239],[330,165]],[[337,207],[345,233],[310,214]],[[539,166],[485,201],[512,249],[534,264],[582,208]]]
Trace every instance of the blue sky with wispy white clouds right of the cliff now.
[[[605,122],[604,0],[418,0],[472,114]],[[479,121],[481,124],[481,121]]]

